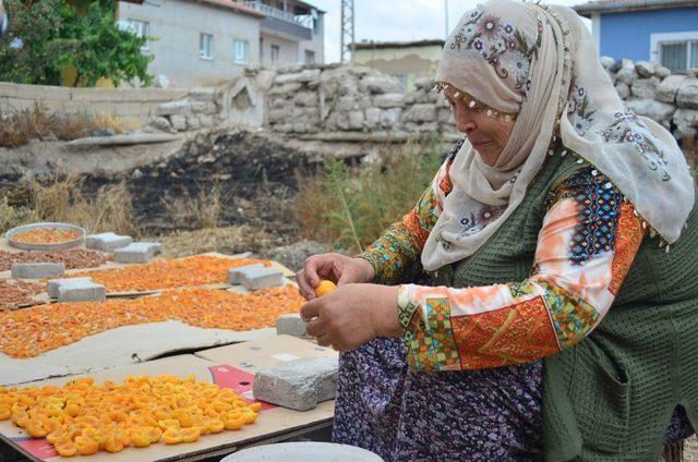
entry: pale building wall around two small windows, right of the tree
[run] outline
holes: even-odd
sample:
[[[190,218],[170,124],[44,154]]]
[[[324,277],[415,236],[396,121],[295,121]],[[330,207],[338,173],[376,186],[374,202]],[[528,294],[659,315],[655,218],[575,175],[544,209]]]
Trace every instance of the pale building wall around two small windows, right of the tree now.
[[[260,57],[260,20],[204,3],[186,0],[158,0],[141,5],[119,2],[119,20],[148,23],[146,53],[155,57],[148,72],[166,75],[176,87],[215,85],[242,73]],[[213,59],[200,57],[200,34],[214,36]],[[250,44],[249,63],[233,63],[233,40]]]

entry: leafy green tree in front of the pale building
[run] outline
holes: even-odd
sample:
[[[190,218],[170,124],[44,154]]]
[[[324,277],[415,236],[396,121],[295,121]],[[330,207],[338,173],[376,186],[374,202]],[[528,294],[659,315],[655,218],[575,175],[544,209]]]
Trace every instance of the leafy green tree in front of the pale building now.
[[[65,0],[7,0],[5,8],[11,25],[0,39],[0,81],[60,85],[61,71],[71,65],[74,85],[153,80],[153,57],[141,52],[147,37],[117,26],[111,0],[91,1],[84,12]]]

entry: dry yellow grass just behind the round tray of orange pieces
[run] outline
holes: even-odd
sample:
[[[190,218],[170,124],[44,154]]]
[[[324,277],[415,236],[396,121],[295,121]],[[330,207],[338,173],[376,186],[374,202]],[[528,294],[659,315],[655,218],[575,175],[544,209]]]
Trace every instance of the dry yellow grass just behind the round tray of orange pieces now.
[[[113,231],[137,235],[125,183],[109,184],[87,197],[75,178],[23,180],[0,196],[0,231],[36,221],[81,226],[88,233]]]

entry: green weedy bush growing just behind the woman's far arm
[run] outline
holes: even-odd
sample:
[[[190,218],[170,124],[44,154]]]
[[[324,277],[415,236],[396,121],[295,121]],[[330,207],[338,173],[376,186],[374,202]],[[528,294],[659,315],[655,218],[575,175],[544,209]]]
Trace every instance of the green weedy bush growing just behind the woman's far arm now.
[[[411,210],[431,184],[445,153],[440,139],[381,149],[380,167],[330,161],[311,181],[299,179],[296,218],[303,236],[361,252]]]

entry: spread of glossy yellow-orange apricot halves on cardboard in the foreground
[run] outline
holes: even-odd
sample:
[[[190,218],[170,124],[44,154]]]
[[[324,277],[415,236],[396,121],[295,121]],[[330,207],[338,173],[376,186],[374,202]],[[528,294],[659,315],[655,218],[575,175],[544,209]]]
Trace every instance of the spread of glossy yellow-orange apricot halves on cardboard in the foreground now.
[[[64,386],[0,388],[0,421],[45,438],[61,458],[186,445],[255,423],[260,402],[195,376],[76,378]]]

